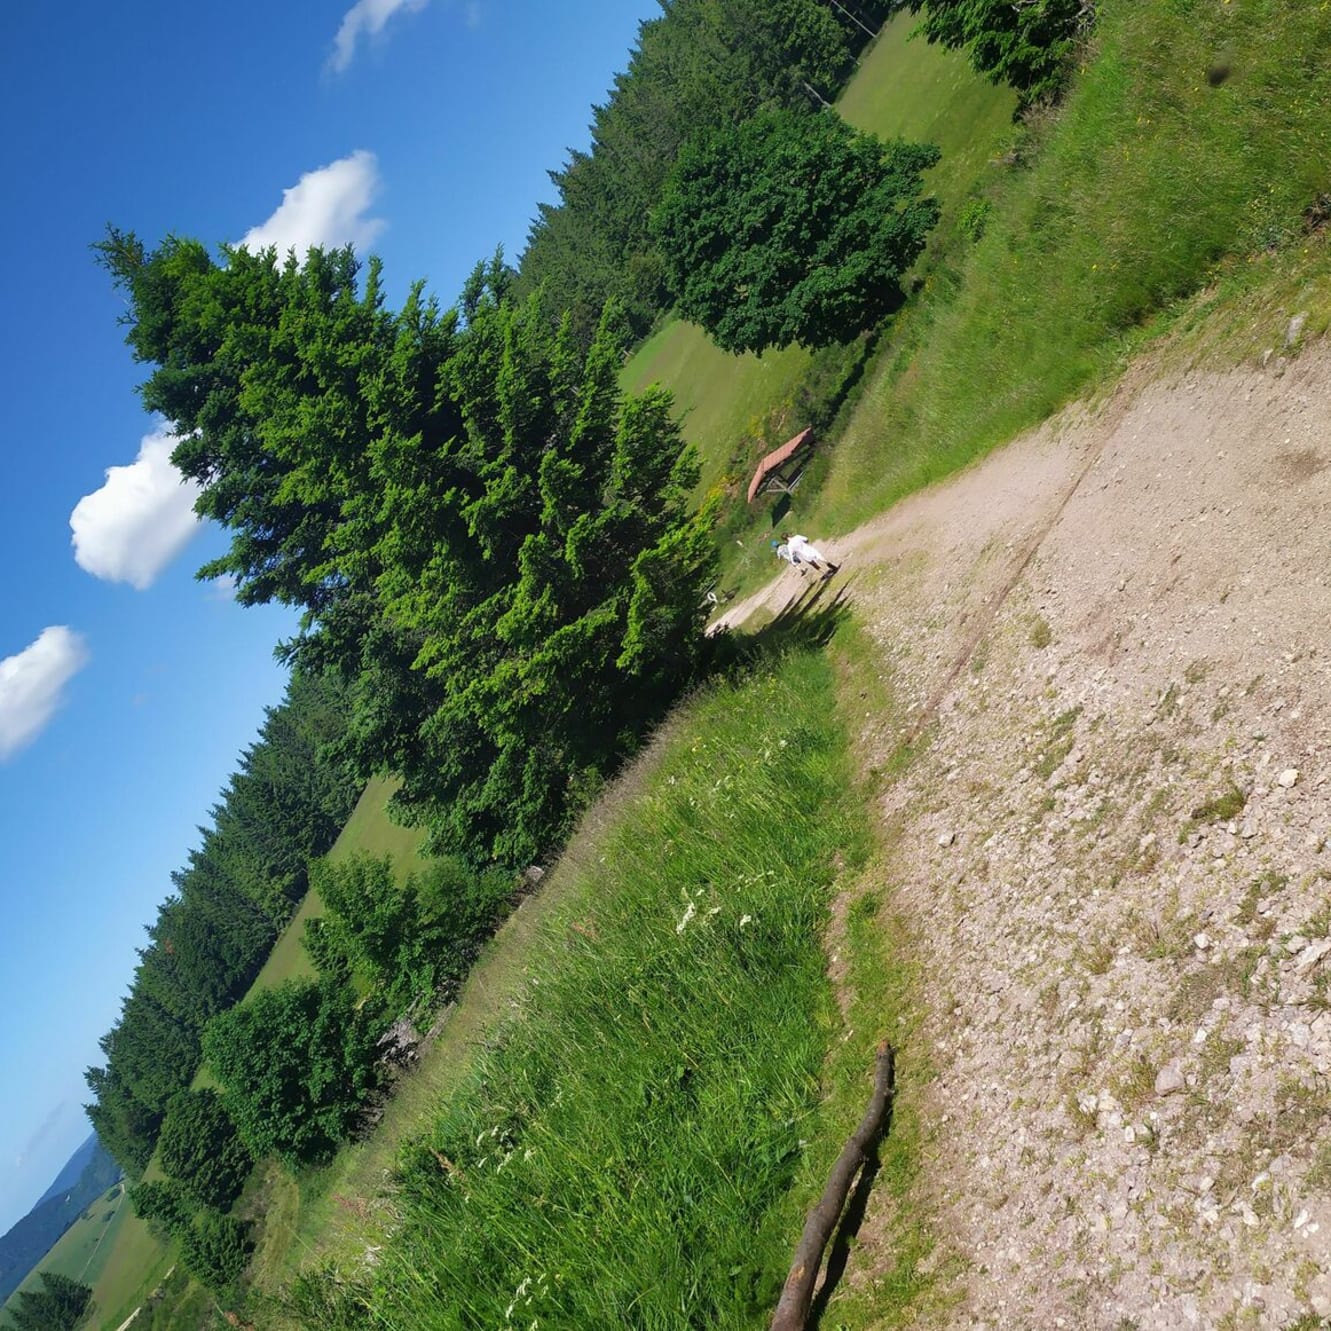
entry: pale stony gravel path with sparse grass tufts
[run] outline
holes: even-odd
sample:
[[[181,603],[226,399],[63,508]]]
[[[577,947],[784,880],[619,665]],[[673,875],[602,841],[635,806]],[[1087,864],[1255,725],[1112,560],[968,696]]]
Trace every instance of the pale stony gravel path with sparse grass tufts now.
[[[1331,349],[1139,373],[828,547],[928,737],[929,1324],[1331,1315]]]

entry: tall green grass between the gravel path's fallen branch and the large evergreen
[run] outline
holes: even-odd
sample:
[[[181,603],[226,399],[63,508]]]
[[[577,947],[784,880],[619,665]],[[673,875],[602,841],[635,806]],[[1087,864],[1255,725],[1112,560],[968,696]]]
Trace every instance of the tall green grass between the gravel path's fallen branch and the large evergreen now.
[[[865,848],[824,656],[697,699],[405,1157],[365,1324],[760,1326],[839,1020],[829,888]]]

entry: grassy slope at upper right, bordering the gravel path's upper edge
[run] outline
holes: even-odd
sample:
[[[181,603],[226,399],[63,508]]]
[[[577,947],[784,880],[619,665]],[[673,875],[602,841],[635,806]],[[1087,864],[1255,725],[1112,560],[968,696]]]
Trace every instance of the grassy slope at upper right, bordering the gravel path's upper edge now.
[[[1014,142],[968,260],[930,277],[811,526],[844,528],[1119,367],[1171,302],[1299,237],[1331,189],[1331,9],[1103,0],[1057,117]]]

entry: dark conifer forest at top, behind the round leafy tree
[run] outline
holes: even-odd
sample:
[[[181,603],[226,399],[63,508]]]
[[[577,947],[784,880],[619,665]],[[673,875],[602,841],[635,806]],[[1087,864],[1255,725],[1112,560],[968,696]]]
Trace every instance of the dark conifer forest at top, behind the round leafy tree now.
[[[856,53],[900,0],[662,0],[628,68],[592,109],[591,146],[550,173],[518,268],[519,294],[542,291],[590,338],[615,299],[631,337],[669,309],[651,210],[680,148],[763,109],[831,102]]]

